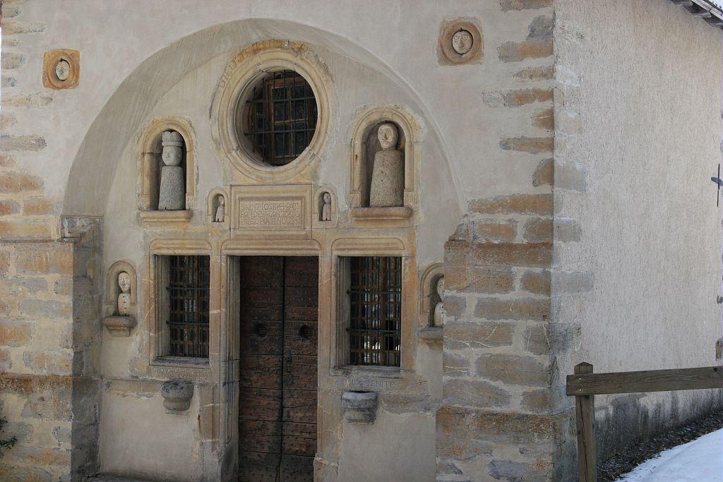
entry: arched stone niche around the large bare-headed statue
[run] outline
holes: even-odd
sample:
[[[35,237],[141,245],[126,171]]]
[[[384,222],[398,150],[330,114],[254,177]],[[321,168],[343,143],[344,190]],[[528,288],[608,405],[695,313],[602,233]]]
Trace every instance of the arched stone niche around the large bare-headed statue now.
[[[414,208],[418,203],[416,191],[419,152],[416,139],[419,123],[400,106],[372,108],[363,113],[356,122],[351,139],[351,189],[349,204],[354,207],[369,207],[369,189],[372,168],[377,151],[381,150],[377,131],[381,124],[391,123],[397,127],[397,150],[404,159],[404,207]]]

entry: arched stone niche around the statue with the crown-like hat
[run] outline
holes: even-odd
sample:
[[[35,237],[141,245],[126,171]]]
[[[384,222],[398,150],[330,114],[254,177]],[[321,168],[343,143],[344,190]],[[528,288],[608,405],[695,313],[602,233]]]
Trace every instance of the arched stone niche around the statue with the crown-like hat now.
[[[181,166],[186,176],[186,206],[192,210],[196,205],[196,142],[191,123],[180,117],[156,119],[143,129],[138,160],[138,209],[158,210],[158,188],[161,184],[161,137],[163,132],[176,131],[183,137],[183,160]]]

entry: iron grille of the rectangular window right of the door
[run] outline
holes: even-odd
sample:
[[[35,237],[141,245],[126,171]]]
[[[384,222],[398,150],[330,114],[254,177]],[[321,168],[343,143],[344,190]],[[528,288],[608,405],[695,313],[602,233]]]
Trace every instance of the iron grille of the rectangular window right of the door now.
[[[349,261],[349,361],[400,366],[402,259],[370,256]]]

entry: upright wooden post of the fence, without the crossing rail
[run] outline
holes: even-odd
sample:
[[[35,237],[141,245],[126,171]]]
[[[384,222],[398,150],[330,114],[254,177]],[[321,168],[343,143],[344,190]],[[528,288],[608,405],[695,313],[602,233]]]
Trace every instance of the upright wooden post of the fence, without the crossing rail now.
[[[575,374],[592,373],[590,363],[579,363]],[[578,481],[597,482],[595,455],[595,395],[576,395],[575,413],[578,423]]]

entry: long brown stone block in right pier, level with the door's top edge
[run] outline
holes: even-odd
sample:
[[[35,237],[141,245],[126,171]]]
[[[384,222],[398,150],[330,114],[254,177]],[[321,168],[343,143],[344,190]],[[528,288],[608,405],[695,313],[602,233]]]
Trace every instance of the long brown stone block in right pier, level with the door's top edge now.
[[[481,243],[471,252],[483,266],[549,267],[552,244],[549,243]]]

